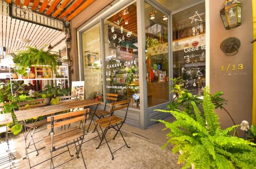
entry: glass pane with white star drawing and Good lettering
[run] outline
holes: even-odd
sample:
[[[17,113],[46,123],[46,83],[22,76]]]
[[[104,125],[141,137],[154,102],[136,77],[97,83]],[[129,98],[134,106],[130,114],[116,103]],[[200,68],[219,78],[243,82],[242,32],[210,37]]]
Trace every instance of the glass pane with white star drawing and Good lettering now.
[[[205,3],[173,15],[173,77],[202,94],[205,87]]]

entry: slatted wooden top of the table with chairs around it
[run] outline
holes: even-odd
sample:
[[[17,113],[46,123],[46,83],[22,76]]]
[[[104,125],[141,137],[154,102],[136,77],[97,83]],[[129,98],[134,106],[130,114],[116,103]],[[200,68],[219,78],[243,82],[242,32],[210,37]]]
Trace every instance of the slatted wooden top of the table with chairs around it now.
[[[74,102],[61,103],[58,105],[37,107],[37,108],[28,109],[28,110],[18,110],[18,111],[15,111],[14,113],[18,121],[22,121],[22,120],[30,119],[33,117],[49,115],[49,114],[53,114],[53,113],[57,113],[57,112],[61,112],[69,109],[74,109],[78,107],[98,105],[100,103],[101,102],[97,102],[94,100],[79,100]]]

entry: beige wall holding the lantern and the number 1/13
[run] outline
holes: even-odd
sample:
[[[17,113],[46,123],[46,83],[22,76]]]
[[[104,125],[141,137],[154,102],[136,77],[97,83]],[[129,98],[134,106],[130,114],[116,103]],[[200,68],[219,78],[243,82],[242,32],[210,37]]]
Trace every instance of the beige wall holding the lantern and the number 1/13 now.
[[[210,91],[223,91],[228,100],[225,108],[230,112],[236,124],[247,120],[251,124],[252,108],[252,5],[251,1],[242,3],[242,26],[225,30],[219,11],[223,0],[210,0]],[[226,56],[220,50],[221,42],[228,37],[237,37],[241,41],[239,52],[235,56]],[[221,71],[221,66],[243,64],[242,70]],[[230,127],[232,122],[224,110],[218,111],[222,127]],[[240,134],[243,134],[240,132]]]

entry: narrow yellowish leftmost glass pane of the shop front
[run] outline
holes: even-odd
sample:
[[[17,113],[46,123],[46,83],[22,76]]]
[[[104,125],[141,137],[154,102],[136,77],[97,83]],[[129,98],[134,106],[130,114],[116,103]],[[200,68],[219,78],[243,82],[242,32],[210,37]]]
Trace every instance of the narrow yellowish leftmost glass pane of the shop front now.
[[[103,101],[100,25],[82,33],[84,83],[86,99]]]

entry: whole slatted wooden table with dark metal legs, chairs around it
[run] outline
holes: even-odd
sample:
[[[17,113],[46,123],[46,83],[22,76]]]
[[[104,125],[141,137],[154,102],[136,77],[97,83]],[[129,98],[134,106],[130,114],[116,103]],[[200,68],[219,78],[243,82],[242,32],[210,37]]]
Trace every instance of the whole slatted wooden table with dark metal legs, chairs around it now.
[[[27,141],[26,141],[27,136],[28,136],[27,132],[29,133],[30,130],[26,131],[26,121],[25,121],[26,119],[31,119],[31,118],[34,118],[34,117],[37,117],[37,119],[38,119],[39,116],[50,115],[50,114],[58,113],[58,112],[61,112],[61,111],[66,111],[66,110],[75,109],[75,108],[79,108],[79,107],[88,107],[88,106],[93,106],[93,105],[96,105],[96,109],[97,109],[97,107],[100,103],[101,102],[97,102],[97,101],[94,101],[94,100],[79,100],[79,101],[74,101],[74,102],[61,103],[61,104],[58,104],[58,105],[50,105],[50,106],[32,108],[32,109],[28,109],[28,110],[15,111],[14,113],[17,117],[17,120],[24,122],[23,123],[23,125],[24,125],[23,129],[25,129],[25,130],[23,130],[23,134],[24,134],[24,140],[25,140],[26,157],[24,157],[23,159],[26,159],[28,157],[28,160],[29,160],[28,154],[32,153],[32,152],[28,152],[28,150],[27,150]],[[96,111],[96,109],[95,109],[95,111]],[[93,113],[93,116],[95,114],[95,111]],[[93,120],[93,116],[92,116],[92,120]],[[35,120],[35,122],[36,122],[36,120]],[[92,120],[90,122],[88,130],[91,126]],[[45,147],[43,147],[43,148],[45,148]],[[43,149],[43,148],[41,148],[41,149]],[[47,159],[47,160],[49,160],[49,159]],[[47,161],[47,160],[45,160],[45,161]],[[45,161],[43,161],[43,162],[45,162]],[[42,163],[42,162],[40,162],[40,163]],[[40,164],[40,163],[38,163],[38,164]],[[36,165],[38,165],[38,164],[36,164]],[[30,161],[29,161],[30,168],[35,167],[36,165],[31,166]]]

